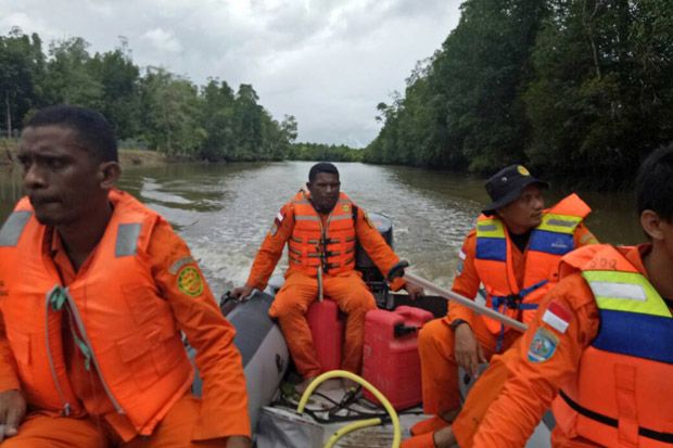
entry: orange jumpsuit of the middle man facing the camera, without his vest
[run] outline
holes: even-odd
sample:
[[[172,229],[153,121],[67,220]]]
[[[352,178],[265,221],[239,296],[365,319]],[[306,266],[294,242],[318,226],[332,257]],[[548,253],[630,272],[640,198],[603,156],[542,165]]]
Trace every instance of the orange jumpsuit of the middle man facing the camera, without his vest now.
[[[320,215],[322,226],[327,216]],[[255,257],[246,285],[264,290],[274,272],[285,242],[294,228],[293,204],[290,202],[280,209],[272,231],[269,232]],[[355,232],[363,248],[384,274],[395,266],[399,258],[385,243],[379,231],[371,225],[361,208],[357,207]],[[394,291],[405,284],[402,279],[391,283]],[[363,360],[363,338],[365,315],[376,308],[376,300],[361,279],[361,274],[352,269],[336,274],[322,276],[325,297],[336,302],[339,309],[347,315],[342,369],[359,372]],[[297,371],[304,377],[317,376],[321,373],[313,345],[310,329],[306,321],[306,312],[310,304],[318,297],[318,281],[315,276],[294,269],[292,263],[285,272],[285,282],[276,295],[269,315],[277,318],[288,348]]]

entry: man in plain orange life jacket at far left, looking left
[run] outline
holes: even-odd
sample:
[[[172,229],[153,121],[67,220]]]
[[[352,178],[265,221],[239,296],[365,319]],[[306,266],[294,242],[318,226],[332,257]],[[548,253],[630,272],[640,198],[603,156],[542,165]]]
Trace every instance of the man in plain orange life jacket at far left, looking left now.
[[[107,121],[39,111],[18,161],[28,197],[0,230],[2,447],[250,447],[234,330],[170,225],[114,188]]]

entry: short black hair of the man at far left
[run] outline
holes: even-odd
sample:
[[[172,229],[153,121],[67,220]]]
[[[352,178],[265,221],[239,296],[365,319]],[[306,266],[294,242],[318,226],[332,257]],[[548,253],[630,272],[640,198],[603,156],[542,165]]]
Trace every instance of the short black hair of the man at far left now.
[[[39,110],[26,127],[63,126],[74,130],[82,149],[100,162],[118,162],[117,139],[105,117],[90,108],[54,105]]]

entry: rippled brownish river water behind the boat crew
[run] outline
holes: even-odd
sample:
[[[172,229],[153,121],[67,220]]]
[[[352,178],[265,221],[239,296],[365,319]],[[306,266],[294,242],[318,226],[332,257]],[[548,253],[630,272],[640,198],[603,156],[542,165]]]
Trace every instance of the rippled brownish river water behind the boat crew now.
[[[278,209],[306,182],[309,162],[172,164],[125,170],[120,188],[161,213],[182,235],[216,294],[242,284]],[[449,286],[457,253],[482,205],[483,179],[419,168],[336,164],[342,190],[394,223],[394,246],[411,271]],[[0,221],[22,194],[21,169],[0,167]],[[566,192],[551,189],[547,204]],[[602,242],[643,240],[628,193],[580,192],[594,213],[587,226]],[[287,267],[285,257],[277,268]]]

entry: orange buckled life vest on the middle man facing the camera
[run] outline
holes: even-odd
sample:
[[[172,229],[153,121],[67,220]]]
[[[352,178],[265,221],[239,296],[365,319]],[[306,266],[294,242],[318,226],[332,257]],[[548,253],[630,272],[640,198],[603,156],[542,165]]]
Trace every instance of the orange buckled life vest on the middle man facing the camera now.
[[[292,199],[294,229],[288,242],[291,269],[309,276],[339,273],[355,268],[355,210],[344,193],[340,193],[334,208],[322,227],[320,215],[303,191]]]

